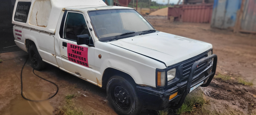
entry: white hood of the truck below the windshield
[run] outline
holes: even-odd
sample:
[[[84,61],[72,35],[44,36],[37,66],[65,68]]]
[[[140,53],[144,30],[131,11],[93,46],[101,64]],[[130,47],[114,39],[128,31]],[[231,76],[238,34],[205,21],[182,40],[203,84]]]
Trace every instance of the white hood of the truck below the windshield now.
[[[174,65],[212,48],[212,44],[164,32],[120,39],[110,44]]]

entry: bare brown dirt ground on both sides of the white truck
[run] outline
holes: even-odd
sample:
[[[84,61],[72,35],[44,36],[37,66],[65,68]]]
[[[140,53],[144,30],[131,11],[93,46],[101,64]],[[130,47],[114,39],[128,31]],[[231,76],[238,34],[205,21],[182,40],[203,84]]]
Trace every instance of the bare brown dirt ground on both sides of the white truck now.
[[[150,16],[147,19],[158,31],[211,43],[213,53],[218,56],[217,72],[242,77],[247,81],[255,79],[256,35],[234,34],[228,30],[212,29],[210,24],[170,23],[166,17]],[[116,114],[108,104],[105,90],[52,65],[35,73],[56,83],[59,86],[57,95],[43,102],[24,100],[20,95],[20,71],[26,58],[27,53],[24,51],[0,53],[0,59],[4,60],[0,63],[0,115],[58,115],[60,108],[66,104],[65,96],[69,94],[76,94],[74,103],[86,108],[90,115]],[[52,96],[57,88],[36,77],[32,70],[28,61],[22,74],[23,95],[36,100]],[[225,114],[225,111],[233,110],[239,114],[251,114],[256,112],[256,80],[253,83],[254,85],[250,87],[234,80],[214,79],[202,90],[211,100],[208,107],[212,111]],[[141,114],[157,113],[144,109]]]

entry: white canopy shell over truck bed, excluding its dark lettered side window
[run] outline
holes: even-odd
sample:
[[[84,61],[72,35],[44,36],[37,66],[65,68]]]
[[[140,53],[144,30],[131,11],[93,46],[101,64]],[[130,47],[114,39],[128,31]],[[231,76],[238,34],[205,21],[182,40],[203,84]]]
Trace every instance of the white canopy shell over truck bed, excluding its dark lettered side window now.
[[[14,20],[18,2],[31,2],[26,23]],[[55,33],[62,9],[70,6],[98,7],[107,5],[102,0],[16,0],[12,23]]]

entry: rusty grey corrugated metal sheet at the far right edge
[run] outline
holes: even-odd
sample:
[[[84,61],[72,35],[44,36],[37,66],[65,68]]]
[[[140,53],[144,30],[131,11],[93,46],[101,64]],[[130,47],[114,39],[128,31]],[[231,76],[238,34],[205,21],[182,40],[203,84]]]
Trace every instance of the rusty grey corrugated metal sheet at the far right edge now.
[[[241,30],[243,32],[256,32],[256,0],[246,0],[244,13],[241,20]]]

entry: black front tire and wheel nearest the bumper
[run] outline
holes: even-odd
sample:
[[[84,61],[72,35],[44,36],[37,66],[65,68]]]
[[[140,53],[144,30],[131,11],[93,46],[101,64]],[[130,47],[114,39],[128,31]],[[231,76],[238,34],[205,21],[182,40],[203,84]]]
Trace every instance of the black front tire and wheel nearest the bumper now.
[[[130,80],[113,76],[108,80],[106,90],[108,102],[117,114],[137,115],[142,110],[136,86]]]

